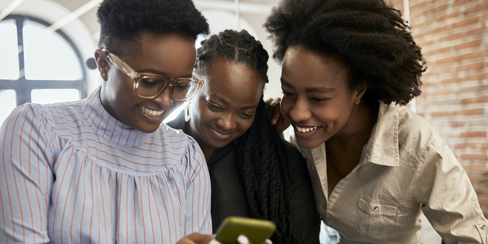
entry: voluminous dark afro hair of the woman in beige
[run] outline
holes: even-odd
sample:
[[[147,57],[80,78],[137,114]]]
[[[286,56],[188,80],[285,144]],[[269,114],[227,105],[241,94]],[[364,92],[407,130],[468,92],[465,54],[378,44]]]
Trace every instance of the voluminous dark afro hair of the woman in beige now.
[[[264,27],[277,61],[302,45],[344,59],[349,87],[367,84],[363,98],[406,105],[420,95],[426,62],[402,14],[383,0],[283,0]]]

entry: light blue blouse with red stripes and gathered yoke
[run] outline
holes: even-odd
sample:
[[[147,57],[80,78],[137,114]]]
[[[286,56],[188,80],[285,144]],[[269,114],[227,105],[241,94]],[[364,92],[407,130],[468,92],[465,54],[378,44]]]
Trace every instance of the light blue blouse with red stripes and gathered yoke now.
[[[176,243],[211,234],[192,137],[146,134],[85,100],[17,107],[0,130],[0,243]]]

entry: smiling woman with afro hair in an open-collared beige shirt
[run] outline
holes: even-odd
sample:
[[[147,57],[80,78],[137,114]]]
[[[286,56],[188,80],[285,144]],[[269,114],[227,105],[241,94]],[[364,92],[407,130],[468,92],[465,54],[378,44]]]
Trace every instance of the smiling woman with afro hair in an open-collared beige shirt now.
[[[291,142],[340,243],[422,243],[421,211],[444,243],[488,243],[463,167],[402,107],[420,95],[426,67],[399,10],[383,0],[282,0],[264,26],[282,63]]]

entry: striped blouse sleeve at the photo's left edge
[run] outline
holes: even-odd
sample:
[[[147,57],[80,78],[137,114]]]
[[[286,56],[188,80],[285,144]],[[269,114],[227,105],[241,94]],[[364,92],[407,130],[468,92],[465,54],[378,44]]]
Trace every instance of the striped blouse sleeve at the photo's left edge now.
[[[49,243],[54,176],[52,137],[33,105],[17,107],[0,128],[0,243]]]

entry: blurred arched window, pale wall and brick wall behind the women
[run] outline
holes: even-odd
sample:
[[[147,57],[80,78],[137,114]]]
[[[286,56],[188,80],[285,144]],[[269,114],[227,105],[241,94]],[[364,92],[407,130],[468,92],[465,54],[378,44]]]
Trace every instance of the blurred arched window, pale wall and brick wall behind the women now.
[[[24,102],[79,100],[101,84],[93,61],[100,1],[0,0],[0,123]],[[409,20],[428,62],[422,95],[408,106],[448,143],[487,216],[488,188],[481,181],[488,171],[488,0],[386,1]],[[195,0],[212,33],[246,29],[270,56],[273,46],[262,23],[276,4],[277,0]],[[280,65],[272,59],[268,65],[270,83],[264,96],[277,98]]]

